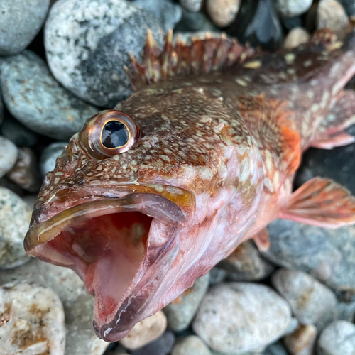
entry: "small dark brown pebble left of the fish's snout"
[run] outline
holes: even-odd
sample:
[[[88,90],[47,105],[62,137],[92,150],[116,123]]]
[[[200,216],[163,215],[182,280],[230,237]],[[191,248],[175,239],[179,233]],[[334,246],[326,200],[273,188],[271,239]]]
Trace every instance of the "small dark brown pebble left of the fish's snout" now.
[[[28,192],[38,192],[42,184],[37,159],[30,148],[18,148],[16,164],[6,176]]]

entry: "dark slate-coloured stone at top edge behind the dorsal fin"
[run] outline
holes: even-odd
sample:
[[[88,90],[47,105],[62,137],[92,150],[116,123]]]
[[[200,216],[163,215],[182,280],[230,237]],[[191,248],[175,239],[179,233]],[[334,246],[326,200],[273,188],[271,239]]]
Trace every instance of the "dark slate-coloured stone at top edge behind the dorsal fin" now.
[[[260,46],[263,50],[277,50],[283,38],[280,21],[272,0],[249,0],[241,3],[238,16],[227,33],[241,43]]]

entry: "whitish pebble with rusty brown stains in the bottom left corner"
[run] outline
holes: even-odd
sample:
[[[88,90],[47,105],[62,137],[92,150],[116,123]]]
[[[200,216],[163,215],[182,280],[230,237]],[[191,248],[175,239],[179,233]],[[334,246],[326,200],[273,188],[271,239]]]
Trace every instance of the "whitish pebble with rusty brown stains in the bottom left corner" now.
[[[35,283],[0,287],[1,355],[64,355],[62,303],[52,289]]]

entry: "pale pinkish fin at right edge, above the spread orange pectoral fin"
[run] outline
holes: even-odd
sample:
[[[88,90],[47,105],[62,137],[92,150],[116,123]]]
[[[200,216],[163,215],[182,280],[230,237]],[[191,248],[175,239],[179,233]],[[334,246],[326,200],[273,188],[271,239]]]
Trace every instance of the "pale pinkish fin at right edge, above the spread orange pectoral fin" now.
[[[344,130],[355,124],[355,92],[340,92],[337,102],[324,117],[319,133],[311,146],[314,148],[332,149],[354,143],[355,137]]]

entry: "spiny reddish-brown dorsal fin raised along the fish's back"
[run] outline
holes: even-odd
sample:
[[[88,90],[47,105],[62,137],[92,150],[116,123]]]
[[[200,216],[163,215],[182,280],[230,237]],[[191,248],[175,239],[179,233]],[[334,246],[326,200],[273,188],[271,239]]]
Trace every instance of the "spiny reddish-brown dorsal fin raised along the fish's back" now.
[[[240,45],[236,40],[226,38],[192,38],[187,45],[178,37],[173,44],[170,30],[163,50],[160,50],[150,30],[147,31],[143,62],[139,64],[132,55],[131,67],[125,67],[134,90],[169,77],[208,73],[231,67],[236,62],[244,62],[254,54],[248,45]]]

